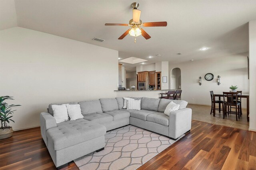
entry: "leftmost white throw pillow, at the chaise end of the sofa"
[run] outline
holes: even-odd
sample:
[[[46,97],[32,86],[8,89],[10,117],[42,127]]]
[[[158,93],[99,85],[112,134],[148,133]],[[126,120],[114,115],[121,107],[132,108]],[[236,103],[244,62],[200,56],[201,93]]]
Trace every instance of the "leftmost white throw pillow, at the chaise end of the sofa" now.
[[[66,104],[52,105],[52,110],[53,117],[56,120],[56,123],[60,123],[69,119]]]

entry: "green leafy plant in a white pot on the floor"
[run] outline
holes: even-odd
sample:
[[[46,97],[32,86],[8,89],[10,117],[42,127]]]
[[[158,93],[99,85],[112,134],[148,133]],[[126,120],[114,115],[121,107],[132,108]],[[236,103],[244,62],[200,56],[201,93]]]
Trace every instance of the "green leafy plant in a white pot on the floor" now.
[[[1,120],[1,127],[0,127],[0,139],[6,139],[12,136],[13,130],[12,127],[8,126],[10,121],[13,121],[12,114],[16,110],[12,110],[12,107],[20,106],[20,105],[8,105],[5,100],[14,100],[13,97],[10,96],[1,96],[0,97],[0,120]],[[13,121],[14,122],[14,121]]]

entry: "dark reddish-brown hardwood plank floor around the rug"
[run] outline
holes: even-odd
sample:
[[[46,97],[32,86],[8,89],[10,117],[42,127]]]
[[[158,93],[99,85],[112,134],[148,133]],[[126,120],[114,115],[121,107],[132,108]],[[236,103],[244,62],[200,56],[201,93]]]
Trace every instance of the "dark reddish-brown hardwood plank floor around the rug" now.
[[[0,170],[56,169],[40,127],[0,141]],[[77,170],[74,163],[63,170]],[[139,170],[256,170],[256,133],[192,121],[191,132]]]

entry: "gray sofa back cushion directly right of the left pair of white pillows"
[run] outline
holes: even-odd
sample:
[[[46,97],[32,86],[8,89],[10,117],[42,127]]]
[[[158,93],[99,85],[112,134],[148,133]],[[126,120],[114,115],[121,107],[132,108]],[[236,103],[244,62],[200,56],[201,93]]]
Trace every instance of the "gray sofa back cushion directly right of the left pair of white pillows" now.
[[[90,113],[102,113],[102,108],[100,104],[100,100],[88,100],[83,102],[78,102],[81,107],[81,112],[83,115],[90,114]]]

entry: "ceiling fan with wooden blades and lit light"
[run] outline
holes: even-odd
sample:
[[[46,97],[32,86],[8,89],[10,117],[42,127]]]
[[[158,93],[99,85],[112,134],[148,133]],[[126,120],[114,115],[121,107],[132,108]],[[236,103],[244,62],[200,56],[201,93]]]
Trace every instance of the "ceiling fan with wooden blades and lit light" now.
[[[132,3],[132,20],[129,21],[129,24],[126,23],[105,23],[105,25],[118,25],[118,26],[130,26],[131,28],[128,29],[127,31],[125,31],[125,33],[123,33],[123,35],[121,35],[118,39],[123,39],[126,35],[128,35],[128,33],[131,36],[134,36],[134,43],[136,43],[136,37],[142,35],[145,39],[150,39],[150,35],[148,35],[148,33],[146,33],[146,31],[144,31],[144,29],[141,28],[141,26],[143,27],[166,27],[167,22],[166,21],[162,21],[162,22],[145,22],[142,23],[142,21],[140,20],[140,10],[137,10],[139,6],[138,2],[133,2]]]

